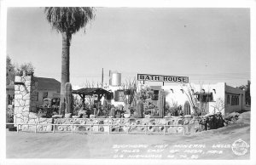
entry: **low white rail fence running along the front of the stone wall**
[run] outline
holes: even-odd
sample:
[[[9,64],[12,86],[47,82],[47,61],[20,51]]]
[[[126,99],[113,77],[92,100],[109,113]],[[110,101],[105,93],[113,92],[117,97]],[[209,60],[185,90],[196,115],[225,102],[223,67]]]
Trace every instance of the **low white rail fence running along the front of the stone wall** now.
[[[179,127],[179,128],[183,128],[183,133],[176,133],[176,134],[185,134],[185,129],[184,129],[184,126],[183,125],[136,125],[136,126],[132,126],[132,125],[118,125],[119,127],[127,127],[127,130],[125,132],[115,132],[115,131],[112,131],[111,128],[114,128],[116,127],[117,125],[116,124],[56,124],[56,123],[47,123],[47,124],[40,124],[40,123],[6,123],[7,125],[16,125],[17,127],[17,133],[19,133],[20,131],[20,127],[22,125],[26,125],[26,126],[29,126],[29,125],[32,125],[34,126],[34,133],[37,134],[37,133],[40,133],[40,132],[52,132],[52,133],[56,133],[56,132],[71,132],[72,134],[74,132],[87,132],[89,134],[173,134],[173,133],[168,133],[166,132],[166,128],[172,128],[172,127]],[[52,126],[52,130],[51,131],[39,131],[37,130],[38,127],[37,126]],[[55,130],[55,126],[67,126],[67,127],[71,127],[71,131],[58,131],[58,130]],[[79,126],[79,127],[89,127],[90,129],[89,130],[84,130],[84,131],[75,131],[74,130],[74,127],[75,126]],[[100,131],[98,129],[98,131],[92,131],[92,128],[93,127],[99,127],[99,126],[102,126],[102,127],[108,127],[108,131]],[[142,127],[144,129],[144,132],[141,131],[141,132],[130,132],[130,128],[131,127]],[[150,128],[151,129],[148,129]],[[150,130],[152,130],[152,128],[160,128],[160,132],[151,132]],[[23,132],[26,132],[24,130],[21,130]]]

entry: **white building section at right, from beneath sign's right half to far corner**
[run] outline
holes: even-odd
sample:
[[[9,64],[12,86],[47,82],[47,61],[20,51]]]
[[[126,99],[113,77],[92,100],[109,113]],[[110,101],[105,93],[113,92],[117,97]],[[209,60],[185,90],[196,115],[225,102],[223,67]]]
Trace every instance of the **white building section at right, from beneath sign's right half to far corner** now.
[[[241,111],[245,107],[245,91],[231,87],[226,83],[177,84],[162,86],[161,89],[166,91],[166,103],[169,106],[177,103],[183,107],[183,112],[186,111],[185,113],[188,114],[194,112],[189,98],[194,98],[197,105],[201,107],[201,111],[206,114],[216,112],[228,114]]]

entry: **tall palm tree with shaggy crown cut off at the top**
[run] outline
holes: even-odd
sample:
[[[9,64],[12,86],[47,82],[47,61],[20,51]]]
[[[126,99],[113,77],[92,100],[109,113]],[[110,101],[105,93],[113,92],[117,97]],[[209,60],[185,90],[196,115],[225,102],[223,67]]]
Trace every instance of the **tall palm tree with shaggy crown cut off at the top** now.
[[[62,35],[61,56],[61,102],[59,114],[64,113],[64,90],[65,83],[69,83],[69,47],[72,35],[84,27],[95,17],[94,8],[67,8],[48,7],[44,8],[46,19],[57,32]]]

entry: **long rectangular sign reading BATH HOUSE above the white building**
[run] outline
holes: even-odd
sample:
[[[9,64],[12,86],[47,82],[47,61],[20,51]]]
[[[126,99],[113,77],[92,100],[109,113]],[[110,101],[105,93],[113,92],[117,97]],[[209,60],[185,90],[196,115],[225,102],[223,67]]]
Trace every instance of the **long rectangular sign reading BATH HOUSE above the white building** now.
[[[164,83],[189,83],[189,77],[137,74],[137,81],[164,82]]]

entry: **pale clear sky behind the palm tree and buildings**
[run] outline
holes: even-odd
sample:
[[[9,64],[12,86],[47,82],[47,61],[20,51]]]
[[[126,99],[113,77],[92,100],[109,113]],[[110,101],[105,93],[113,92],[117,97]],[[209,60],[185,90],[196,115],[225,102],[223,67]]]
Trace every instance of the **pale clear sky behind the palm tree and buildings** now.
[[[35,76],[61,79],[61,34],[44,8],[9,8],[7,54],[32,62]],[[104,83],[108,71],[122,81],[137,73],[189,77],[190,83],[250,80],[249,9],[96,8],[96,18],[73,35],[70,80]],[[159,83],[161,84],[161,83]]]

